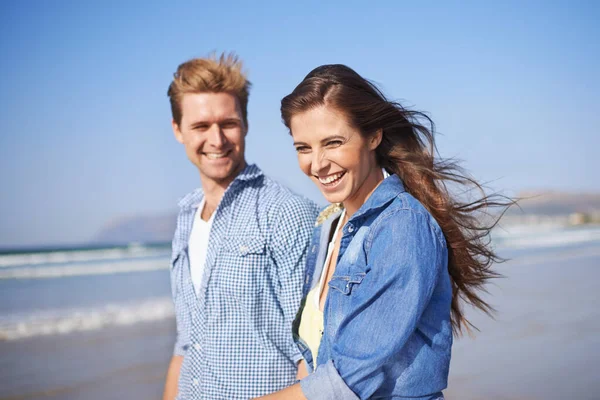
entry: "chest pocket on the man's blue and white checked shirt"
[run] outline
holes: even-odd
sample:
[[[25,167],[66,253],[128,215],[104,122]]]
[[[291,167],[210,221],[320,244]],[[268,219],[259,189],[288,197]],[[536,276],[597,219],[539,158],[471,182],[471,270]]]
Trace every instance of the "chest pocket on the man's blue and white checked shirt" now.
[[[239,300],[249,300],[265,289],[268,265],[262,237],[227,236],[216,265],[219,289]]]

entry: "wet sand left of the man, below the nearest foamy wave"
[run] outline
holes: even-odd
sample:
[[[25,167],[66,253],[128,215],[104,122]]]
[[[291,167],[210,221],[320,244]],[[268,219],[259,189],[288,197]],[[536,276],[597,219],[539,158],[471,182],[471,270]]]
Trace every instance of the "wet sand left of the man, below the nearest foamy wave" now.
[[[174,324],[0,342],[0,399],[160,399]]]

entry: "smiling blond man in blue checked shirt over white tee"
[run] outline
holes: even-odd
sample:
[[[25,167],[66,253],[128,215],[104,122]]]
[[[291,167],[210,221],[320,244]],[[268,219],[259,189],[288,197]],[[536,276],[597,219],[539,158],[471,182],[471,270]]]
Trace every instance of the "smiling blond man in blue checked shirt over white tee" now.
[[[201,188],[179,203],[171,286],[177,341],[164,399],[249,399],[295,380],[299,307],[316,206],[246,164],[250,82],[234,55],[181,64],[175,138]]]

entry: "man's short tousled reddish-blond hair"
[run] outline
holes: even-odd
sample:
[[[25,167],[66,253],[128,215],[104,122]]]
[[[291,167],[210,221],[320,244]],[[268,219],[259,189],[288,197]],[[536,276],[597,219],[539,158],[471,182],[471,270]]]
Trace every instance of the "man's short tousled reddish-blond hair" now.
[[[212,54],[194,58],[177,67],[167,95],[171,113],[177,125],[181,124],[181,99],[187,93],[231,93],[240,105],[244,125],[248,126],[248,96],[252,84],[242,71],[242,62],[234,53]]]

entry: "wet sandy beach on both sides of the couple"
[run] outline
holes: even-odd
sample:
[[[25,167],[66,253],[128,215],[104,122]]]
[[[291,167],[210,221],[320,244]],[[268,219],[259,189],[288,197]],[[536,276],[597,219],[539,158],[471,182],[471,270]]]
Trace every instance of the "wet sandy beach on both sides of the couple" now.
[[[447,399],[598,399],[600,246],[508,254],[496,319],[453,347]],[[0,400],[160,399],[174,320],[0,342]]]

